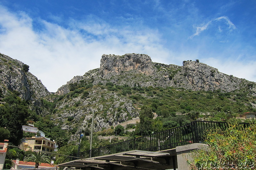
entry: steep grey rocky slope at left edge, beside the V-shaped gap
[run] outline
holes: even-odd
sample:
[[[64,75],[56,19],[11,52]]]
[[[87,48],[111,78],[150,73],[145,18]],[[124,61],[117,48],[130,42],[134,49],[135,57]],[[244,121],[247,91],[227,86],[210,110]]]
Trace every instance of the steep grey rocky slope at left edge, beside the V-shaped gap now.
[[[21,99],[30,100],[34,105],[37,105],[39,99],[49,95],[50,92],[42,84],[41,80],[38,80],[28,71],[28,68],[24,67],[25,65],[0,53],[1,88],[5,94],[8,91],[18,91]]]

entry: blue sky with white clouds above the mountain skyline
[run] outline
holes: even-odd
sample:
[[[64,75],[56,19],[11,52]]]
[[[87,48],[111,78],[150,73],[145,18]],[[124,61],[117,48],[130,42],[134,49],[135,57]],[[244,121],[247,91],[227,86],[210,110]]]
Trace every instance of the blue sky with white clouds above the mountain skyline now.
[[[0,53],[51,92],[99,68],[102,54],[199,59],[256,82],[255,11],[255,0],[0,0]]]

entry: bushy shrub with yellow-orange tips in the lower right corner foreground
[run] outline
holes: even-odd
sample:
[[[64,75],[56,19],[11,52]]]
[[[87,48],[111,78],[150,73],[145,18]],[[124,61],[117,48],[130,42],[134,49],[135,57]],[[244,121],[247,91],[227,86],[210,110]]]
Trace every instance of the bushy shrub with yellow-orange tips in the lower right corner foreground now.
[[[256,165],[256,124],[228,123],[228,128],[206,132],[207,148],[191,153],[192,170],[252,169]]]

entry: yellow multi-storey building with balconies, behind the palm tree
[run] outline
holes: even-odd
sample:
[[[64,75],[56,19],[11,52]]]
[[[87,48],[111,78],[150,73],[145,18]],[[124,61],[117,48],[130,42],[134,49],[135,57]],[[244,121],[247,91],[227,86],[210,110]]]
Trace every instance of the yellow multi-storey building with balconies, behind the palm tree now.
[[[20,147],[25,148],[25,151],[33,149],[36,151],[52,152],[54,151],[56,144],[51,141],[50,138],[33,136],[27,137],[25,140],[23,139]],[[51,155],[51,153],[46,153],[46,155]]]

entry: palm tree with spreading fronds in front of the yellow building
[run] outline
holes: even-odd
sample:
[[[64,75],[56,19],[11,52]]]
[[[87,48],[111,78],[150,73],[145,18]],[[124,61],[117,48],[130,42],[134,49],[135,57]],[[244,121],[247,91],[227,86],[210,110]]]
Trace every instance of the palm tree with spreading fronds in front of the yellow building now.
[[[49,156],[46,156],[45,153],[43,152],[33,152],[33,153],[30,153],[28,155],[28,157],[26,157],[24,159],[24,161],[27,161],[27,162],[36,162],[36,167],[35,168],[38,168],[38,166],[43,162],[43,163],[48,163],[48,164],[51,164],[51,158]]]

